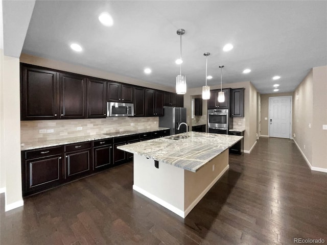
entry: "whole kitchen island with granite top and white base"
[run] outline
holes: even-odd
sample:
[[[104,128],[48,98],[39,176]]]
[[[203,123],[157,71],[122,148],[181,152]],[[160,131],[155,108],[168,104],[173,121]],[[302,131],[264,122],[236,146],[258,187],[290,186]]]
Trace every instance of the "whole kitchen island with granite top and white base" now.
[[[228,169],[242,136],[189,132],[119,146],[134,154],[133,189],[186,217]]]

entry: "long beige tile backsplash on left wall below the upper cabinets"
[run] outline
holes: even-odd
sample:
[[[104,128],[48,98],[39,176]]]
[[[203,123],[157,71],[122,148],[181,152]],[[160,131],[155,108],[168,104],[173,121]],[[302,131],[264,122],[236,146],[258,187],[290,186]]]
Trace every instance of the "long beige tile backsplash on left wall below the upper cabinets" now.
[[[20,141],[34,142],[68,137],[157,128],[158,117],[20,121]]]

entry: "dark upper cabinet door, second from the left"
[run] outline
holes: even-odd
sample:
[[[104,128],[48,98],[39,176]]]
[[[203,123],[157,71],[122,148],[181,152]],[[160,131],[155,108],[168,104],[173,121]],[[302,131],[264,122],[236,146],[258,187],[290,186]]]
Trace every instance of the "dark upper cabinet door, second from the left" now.
[[[60,118],[86,118],[85,78],[60,74]]]

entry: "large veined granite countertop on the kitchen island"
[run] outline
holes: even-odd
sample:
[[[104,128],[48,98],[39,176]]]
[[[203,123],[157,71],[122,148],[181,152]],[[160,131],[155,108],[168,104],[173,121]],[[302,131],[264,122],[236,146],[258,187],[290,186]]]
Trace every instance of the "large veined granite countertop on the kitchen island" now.
[[[196,172],[243,136],[189,132],[118,146],[118,149]]]

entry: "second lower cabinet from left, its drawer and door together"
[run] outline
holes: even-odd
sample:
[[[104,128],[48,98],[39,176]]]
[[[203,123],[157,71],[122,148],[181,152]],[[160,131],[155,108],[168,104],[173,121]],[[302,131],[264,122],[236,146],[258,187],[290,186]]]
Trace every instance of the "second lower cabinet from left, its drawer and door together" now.
[[[91,159],[91,142],[65,145],[65,179],[89,175]]]

